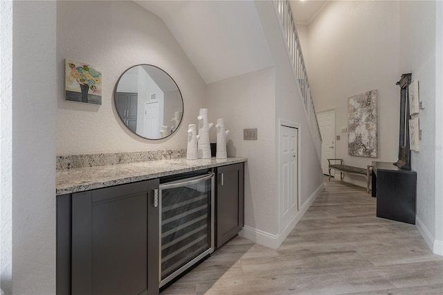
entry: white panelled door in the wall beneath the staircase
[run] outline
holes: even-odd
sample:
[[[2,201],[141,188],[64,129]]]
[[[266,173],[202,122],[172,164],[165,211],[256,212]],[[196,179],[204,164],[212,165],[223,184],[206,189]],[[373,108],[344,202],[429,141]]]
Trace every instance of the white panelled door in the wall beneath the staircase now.
[[[298,212],[298,129],[280,124],[279,230]]]

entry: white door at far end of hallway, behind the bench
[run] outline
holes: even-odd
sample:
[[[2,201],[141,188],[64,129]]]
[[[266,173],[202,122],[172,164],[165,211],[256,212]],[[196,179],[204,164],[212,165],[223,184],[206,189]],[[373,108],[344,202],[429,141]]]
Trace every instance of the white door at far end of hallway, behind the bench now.
[[[323,174],[329,175],[327,171],[327,159],[335,159],[335,109],[317,113],[320,134],[323,139],[321,145],[321,167]]]

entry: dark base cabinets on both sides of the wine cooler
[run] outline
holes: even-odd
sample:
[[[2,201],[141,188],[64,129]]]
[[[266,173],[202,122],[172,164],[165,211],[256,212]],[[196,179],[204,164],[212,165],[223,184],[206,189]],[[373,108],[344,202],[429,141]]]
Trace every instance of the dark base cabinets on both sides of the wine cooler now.
[[[211,208],[210,216],[215,213],[215,236],[209,240],[212,244],[215,238],[217,249],[235,237],[244,224],[244,163],[214,171],[215,208]],[[193,175],[189,172],[162,180],[183,181],[183,177]],[[161,195],[160,181],[57,196],[57,295],[159,294],[159,208],[163,203],[154,199],[156,192],[157,197]],[[183,203],[180,197],[183,195],[178,193],[171,202]],[[179,215],[186,214],[180,211]],[[214,224],[212,219],[210,224]]]

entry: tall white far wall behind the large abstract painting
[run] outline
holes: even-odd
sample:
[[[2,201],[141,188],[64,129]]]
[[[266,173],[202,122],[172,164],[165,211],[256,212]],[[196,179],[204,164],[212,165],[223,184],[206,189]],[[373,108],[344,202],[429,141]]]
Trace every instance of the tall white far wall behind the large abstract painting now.
[[[399,1],[330,1],[309,24],[309,81],[317,111],[336,108],[336,157],[366,167],[397,161]],[[347,98],[377,89],[378,158],[347,154]],[[365,186],[363,177],[345,181]]]

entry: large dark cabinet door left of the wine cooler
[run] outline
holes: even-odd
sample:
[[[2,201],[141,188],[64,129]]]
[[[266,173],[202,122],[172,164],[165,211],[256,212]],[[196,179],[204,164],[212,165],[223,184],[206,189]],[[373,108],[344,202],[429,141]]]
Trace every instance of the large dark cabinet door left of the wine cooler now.
[[[159,180],[72,197],[72,294],[159,294]]]

